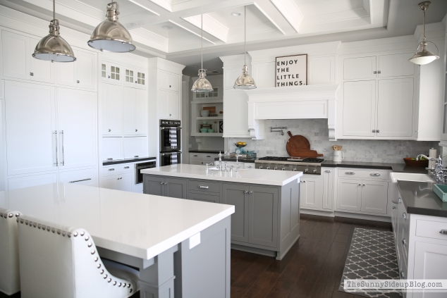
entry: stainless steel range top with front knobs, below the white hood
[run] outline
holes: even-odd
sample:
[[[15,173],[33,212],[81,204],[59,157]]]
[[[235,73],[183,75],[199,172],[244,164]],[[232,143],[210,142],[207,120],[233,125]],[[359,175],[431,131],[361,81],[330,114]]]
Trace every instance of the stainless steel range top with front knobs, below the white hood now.
[[[312,175],[322,175],[324,159],[266,156],[255,161],[255,167],[264,170],[297,170]]]

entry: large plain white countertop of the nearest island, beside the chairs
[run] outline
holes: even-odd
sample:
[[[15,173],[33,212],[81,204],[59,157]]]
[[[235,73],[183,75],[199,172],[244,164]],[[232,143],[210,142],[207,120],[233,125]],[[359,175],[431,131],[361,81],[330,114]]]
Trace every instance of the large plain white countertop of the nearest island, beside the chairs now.
[[[98,247],[151,259],[234,213],[234,206],[54,183],[0,192],[0,207],[85,228]]]

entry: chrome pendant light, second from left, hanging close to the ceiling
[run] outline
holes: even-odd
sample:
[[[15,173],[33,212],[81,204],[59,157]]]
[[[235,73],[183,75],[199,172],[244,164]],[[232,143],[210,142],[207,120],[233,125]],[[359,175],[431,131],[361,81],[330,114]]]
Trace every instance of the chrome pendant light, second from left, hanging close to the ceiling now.
[[[118,22],[119,6],[116,2],[107,4],[106,20],[100,23],[92,33],[89,46],[99,51],[113,51],[126,53],[136,49],[132,36],[121,23]]]

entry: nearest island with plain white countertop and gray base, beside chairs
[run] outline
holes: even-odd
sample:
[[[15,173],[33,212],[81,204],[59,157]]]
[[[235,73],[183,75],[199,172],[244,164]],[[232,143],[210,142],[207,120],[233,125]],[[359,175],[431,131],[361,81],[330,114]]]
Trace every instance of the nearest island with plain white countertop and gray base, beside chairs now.
[[[234,206],[54,183],[0,192],[0,207],[92,235],[140,270],[140,297],[230,297]]]

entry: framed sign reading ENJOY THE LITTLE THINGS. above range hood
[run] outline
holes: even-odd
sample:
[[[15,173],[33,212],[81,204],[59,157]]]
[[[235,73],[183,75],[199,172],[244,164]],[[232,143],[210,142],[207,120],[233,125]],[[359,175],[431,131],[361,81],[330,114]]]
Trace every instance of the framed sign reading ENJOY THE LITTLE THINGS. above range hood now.
[[[307,54],[276,57],[275,87],[307,85]]]

